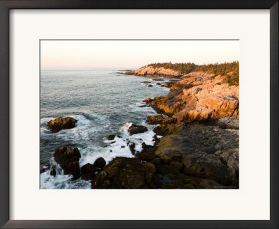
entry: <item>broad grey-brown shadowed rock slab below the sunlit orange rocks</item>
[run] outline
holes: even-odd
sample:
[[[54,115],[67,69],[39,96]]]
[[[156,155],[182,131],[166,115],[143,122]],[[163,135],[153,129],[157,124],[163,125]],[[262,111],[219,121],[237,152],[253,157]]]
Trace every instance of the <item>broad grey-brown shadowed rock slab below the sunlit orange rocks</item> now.
[[[167,164],[180,162],[186,175],[238,186],[238,129],[186,125],[178,134],[169,134],[160,139],[157,147],[155,154],[161,160]]]

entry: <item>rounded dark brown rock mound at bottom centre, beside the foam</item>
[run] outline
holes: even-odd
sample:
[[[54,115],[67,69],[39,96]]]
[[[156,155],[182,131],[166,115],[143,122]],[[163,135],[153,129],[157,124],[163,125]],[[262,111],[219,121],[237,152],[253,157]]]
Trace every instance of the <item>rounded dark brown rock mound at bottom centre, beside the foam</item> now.
[[[92,180],[93,189],[151,189],[160,182],[156,167],[137,157],[116,157]]]

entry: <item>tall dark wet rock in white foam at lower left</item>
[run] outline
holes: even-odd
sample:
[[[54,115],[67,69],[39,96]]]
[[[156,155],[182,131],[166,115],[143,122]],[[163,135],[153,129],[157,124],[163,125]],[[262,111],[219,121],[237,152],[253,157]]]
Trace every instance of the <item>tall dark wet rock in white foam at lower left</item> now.
[[[80,150],[65,145],[54,152],[54,159],[63,168],[64,174],[71,174],[74,178],[80,177],[80,157]]]

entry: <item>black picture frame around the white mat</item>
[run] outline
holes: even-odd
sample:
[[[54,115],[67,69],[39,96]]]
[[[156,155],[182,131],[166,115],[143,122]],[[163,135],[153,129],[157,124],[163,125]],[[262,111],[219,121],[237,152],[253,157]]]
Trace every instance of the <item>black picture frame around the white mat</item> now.
[[[270,220],[40,221],[9,216],[10,9],[269,9],[270,10]],[[278,0],[0,0],[0,226],[2,228],[278,228]],[[260,198],[260,196],[259,196]],[[257,201],[257,200],[255,200]]]

